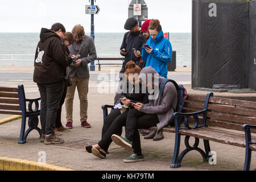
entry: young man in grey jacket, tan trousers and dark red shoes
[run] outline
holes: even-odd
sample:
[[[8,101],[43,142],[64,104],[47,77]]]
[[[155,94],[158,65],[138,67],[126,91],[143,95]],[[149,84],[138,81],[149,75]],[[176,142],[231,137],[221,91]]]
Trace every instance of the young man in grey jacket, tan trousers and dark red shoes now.
[[[68,47],[69,52],[75,57],[76,63],[69,65],[67,74],[71,78],[72,86],[68,86],[67,96],[65,98],[66,109],[66,127],[73,128],[73,99],[75,90],[79,93],[80,100],[80,122],[82,127],[91,127],[87,122],[88,110],[88,85],[89,85],[89,67],[88,64],[97,58],[96,48],[93,38],[85,35],[84,27],[77,24],[73,27],[72,34],[75,41]],[[80,57],[77,57],[80,55]]]

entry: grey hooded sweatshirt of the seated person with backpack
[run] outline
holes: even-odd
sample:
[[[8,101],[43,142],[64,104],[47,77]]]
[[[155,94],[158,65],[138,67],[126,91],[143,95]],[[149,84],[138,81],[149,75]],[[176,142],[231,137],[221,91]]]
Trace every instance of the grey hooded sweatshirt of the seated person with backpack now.
[[[150,76],[148,77],[148,75]],[[152,80],[156,94],[159,93],[160,83],[165,79],[164,77],[159,76],[152,67],[143,68],[141,73],[139,73],[139,78],[143,82],[151,82]],[[153,93],[151,93],[151,95],[152,94]],[[175,108],[177,106],[177,91],[175,85],[169,81],[164,86],[162,99],[160,99],[158,94],[158,97],[154,100],[149,100],[148,104],[143,104],[140,111],[146,114],[158,115],[159,123],[157,124],[157,127],[159,131],[171,123],[172,114],[174,113],[174,109],[172,109],[171,105]]]

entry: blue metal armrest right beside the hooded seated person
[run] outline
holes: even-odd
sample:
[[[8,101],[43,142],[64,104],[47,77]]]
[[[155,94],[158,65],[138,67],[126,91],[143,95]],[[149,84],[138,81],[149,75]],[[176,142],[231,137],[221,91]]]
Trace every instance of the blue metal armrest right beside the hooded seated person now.
[[[206,125],[206,114],[207,110],[203,109],[200,111],[196,111],[193,113],[174,113],[172,117],[174,117],[175,122],[175,130],[178,131],[180,129],[196,129],[198,127],[207,126]],[[203,115],[203,125],[199,126],[199,115]],[[195,123],[192,127],[189,126],[189,118],[193,117],[195,119]],[[184,118],[184,119],[183,119]],[[185,128],[181,128],[180,125],[184,121]]]

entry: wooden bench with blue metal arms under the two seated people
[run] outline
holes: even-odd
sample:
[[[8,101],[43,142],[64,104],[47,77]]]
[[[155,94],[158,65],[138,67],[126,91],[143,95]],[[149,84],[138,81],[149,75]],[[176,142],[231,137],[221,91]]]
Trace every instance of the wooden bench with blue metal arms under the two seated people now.
[[[112,105],[102,105],[104,119]],[[256,102],[242,101],[231,98],[188,95],[183,113],[173,114],[175,126],[164,127],[164,132],[175,133],[175,148],[171,168],[181,167],[184,156],[189,152],[198,151],[203,160],[212,159],[209,140],[238,147],[245,147],[244,170],[250,169],[251,151],[256,151]],[[251,125],[253,124],[253,125]],[[156,130],[151,127],[150,130]],[[243,134],[245,131],[245,134]],[[185,149],[180,153],[180,140],[184,135]],[[189,139],[195,138],[193,146]],[[199,139],[203,139],[204,150],[199,148]]]

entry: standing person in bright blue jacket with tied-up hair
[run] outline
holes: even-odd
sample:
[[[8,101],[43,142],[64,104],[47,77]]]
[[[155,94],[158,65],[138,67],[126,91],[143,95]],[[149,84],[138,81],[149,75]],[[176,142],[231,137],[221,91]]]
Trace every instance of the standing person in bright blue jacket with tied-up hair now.
[[[150,38],[146,43],[148,47],[142,48],[145,67],[151,66],[160,76],[167,78],[167,63],[172,60],[172,45],[168,39],[164,38],[158,19],[151,19],[148,30],[150,33]]]

